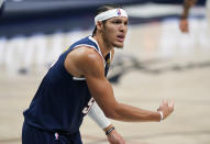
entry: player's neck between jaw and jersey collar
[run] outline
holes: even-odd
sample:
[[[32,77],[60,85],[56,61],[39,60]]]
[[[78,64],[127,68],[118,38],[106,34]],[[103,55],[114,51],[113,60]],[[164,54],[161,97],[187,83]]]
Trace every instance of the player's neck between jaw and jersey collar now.
[[[106,57],[111,49],[113,49],[113,46],[106,43],[101,35],[95,35],[93,38],[97,41],[103,57]]]

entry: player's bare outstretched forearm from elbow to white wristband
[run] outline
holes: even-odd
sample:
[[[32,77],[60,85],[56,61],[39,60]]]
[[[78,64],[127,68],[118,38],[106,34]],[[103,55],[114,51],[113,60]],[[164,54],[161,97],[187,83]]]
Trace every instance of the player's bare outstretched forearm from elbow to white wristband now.
[[[114,110],[112,119],[128,122],[158,122],[161,121],[161,114],[157,111],[148,111],[124,103],[119,103],[118,108]]]

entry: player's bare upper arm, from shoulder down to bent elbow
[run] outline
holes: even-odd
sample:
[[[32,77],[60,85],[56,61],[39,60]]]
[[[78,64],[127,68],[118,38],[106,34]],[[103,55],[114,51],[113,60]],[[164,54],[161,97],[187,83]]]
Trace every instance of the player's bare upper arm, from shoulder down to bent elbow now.
[[[78,52],[77,52],[78,51]],[[92,48],[78,48],[74,55],[74,67],[86,78],[88,89],[107,117],[114,114],[118,102],[113,97],[112,86],[104,76],[103,59]]]

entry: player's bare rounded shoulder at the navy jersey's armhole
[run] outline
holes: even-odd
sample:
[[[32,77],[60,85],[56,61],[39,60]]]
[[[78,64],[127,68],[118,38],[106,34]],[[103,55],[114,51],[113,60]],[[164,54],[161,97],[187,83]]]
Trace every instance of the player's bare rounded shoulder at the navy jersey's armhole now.
[[[65,67],[76,75],[100,74],[103,69],[103,60],[96,49],[80,46],[67,55]]]

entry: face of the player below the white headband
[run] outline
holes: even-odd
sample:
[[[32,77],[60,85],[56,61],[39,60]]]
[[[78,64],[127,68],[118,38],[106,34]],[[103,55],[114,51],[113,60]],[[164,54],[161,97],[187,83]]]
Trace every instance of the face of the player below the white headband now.
[[[128,18],[119,16],[107,20],[102,34],[106,43],[113,47],[123,47],[128,32]]]

